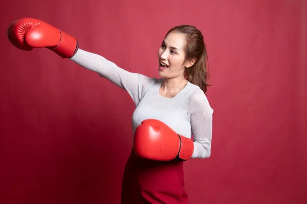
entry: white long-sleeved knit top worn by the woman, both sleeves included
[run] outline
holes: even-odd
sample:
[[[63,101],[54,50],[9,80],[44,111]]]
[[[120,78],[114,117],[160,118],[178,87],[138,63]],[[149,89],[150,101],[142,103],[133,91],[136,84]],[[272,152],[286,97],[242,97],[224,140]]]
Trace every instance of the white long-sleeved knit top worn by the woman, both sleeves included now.
[[[71,60],[129,93],[136,105],[132,116],[133,135],[143,120],[158,119],[182,136],[191,138],[193,134],[192,158],[210,157],[213,110],[200,87],[188,82],[176,96],[166,98],[159,94],[163,79],[129,72],[82,49]]]

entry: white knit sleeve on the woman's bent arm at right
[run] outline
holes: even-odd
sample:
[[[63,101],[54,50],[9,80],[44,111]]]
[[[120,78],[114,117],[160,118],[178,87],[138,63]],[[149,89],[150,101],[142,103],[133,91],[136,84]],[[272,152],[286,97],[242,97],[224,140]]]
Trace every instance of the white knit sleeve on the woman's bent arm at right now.
[[[189,96],[188,112],[194,138],[192,158],[208,158],[211,155],[213,109],[200,88],[195,89]]]

